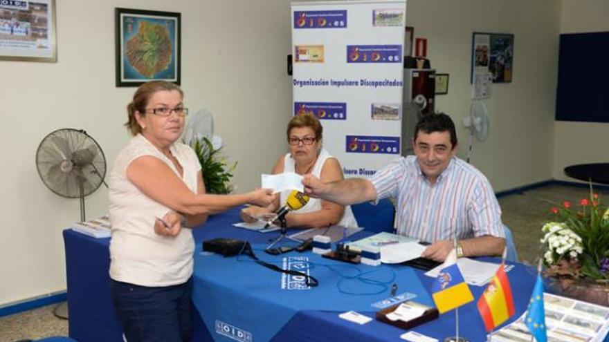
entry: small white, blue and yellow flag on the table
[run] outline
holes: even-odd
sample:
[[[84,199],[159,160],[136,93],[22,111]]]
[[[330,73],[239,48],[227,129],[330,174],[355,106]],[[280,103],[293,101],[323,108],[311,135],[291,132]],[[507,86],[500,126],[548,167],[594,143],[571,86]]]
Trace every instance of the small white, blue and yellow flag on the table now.
[[[442,271],[431,286],[431,296],[440,314],[473,301],[469,286],[457,266],[455,249],[442,264]]]

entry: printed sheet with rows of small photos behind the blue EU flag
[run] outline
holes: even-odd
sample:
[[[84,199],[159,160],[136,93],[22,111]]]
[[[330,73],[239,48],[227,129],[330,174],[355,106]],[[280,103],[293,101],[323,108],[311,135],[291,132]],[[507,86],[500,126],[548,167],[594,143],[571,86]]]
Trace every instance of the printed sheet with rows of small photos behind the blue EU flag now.
[[[543,301],[548,341],[600,342],[609,331],[609,307],[547,293]],[[494,332],[491,341],[531,341],[526,314]]]

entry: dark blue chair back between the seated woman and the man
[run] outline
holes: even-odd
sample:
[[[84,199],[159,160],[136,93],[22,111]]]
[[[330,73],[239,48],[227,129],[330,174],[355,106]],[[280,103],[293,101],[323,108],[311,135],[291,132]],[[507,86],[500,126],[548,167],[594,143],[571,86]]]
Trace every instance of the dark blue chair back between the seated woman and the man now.
[[[383,198],[376,205],[372,205],[370,202],[352,205],[351,210],[358,227],[364,227],[366,231],[374,233],[394,231],[395,207],[388,198]]]

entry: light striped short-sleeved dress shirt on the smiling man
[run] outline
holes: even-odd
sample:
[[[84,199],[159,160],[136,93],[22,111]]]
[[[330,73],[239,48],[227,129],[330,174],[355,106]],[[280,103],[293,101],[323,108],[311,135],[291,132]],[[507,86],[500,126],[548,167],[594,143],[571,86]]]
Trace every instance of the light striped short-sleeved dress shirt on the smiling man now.
[[[478,169],[457,157],[431,184],[415,155],[399,158],[370,179],[376,200],[397,200],[400,235],[433,243],[483,235],[505,238],[493,188]]]

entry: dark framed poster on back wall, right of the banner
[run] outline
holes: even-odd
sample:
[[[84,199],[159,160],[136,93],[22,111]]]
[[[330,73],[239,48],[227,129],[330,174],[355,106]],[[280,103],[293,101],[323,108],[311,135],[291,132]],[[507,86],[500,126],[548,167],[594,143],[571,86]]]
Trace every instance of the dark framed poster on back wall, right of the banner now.
[[[473,32],[471,79],[474,73],[491,73],[493,83],[511,82],[513,75],[513,35]]]

